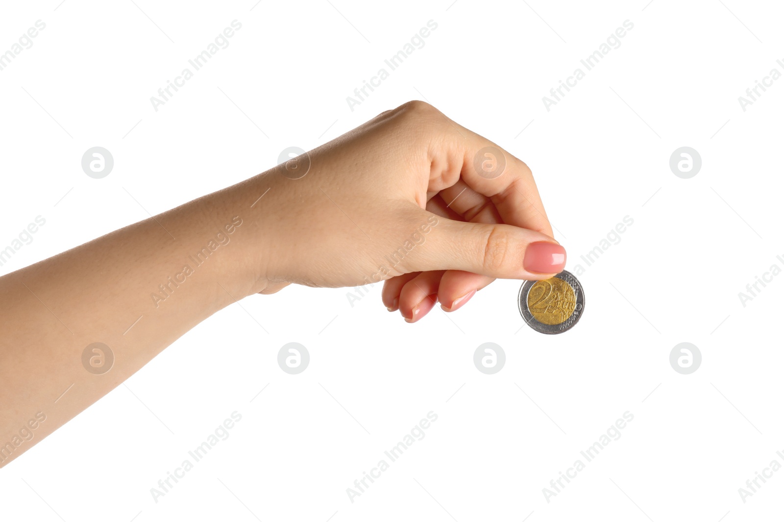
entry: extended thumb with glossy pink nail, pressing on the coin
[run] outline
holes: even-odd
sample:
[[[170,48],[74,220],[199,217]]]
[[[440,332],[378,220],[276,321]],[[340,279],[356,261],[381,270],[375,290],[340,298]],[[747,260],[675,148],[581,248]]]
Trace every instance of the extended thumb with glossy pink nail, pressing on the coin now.
[[[542,232],[514,225],[438,218],[411,268],[463,270],[501,279],[547,279],[566,265],[566,250]]]

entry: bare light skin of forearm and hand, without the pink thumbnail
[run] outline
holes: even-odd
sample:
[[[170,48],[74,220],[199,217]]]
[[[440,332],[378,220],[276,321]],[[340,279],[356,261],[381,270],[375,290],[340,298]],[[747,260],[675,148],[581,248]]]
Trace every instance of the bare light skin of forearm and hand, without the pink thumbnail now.
[[[506,169],[493,179],[474,170],[485,146],[495,144],[426,103],[406,103],[310,151],[302,178],[278,166],[3,276],[0,466],[253,293],[383,279],[383,304],[416,322],[437,302],[456,310],[494,278],[561,272],[524,269],[529,243],[557,242],[521,160],[504,151]],[[415,232],[424,241],[390,267],[385,256]],[[194,264],[189,256],[216,238]],[[183,265],[193,272],[176,276]],[[181,283],[156,303],[151,293],[163,297],[169,276]],[[114,353],[101,375],[82,366],[95,342]],[[45,420],[32,429],[38,412]],[[14,437],[21,444],[2,454]]]

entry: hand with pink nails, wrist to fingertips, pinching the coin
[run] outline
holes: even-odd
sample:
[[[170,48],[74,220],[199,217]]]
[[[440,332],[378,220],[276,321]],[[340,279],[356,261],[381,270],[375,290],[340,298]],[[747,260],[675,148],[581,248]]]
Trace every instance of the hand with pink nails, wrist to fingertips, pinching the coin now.
[[[427,103],[387,110],[249,182],[253,194],[269,189],[254,206],[260,293],[383,280],[387,308],[416,322],[436,299],[453,311],[494,278],[564,268],[528,167]]]

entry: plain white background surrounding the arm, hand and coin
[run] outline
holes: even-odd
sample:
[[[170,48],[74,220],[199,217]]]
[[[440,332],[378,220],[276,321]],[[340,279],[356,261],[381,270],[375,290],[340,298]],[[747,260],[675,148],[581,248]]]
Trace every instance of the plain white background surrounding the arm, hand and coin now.
[[[535,333],[517,311],[518,281],[415,325],[383,308],[380,285],[354,306],[351,289],[249,297],[6,466],[3,520],[780,513],[784,471],[745,503],[738,488],[771,460],[784,464],[784,275],[745,307],[738,294],[784,268],[784,79],[745,112],[738,97],[784,72],[781,5],[59,2],[8,2],[0,16],[0,52],[46,24],[0,71],[0,248],[46,220],[0,273],[426,99],[532,167],[568,269],[586,268],[586,312],[568,333]],[[227,49],[154,111],[150,97],[232,20],[242,28]],[[346,97],[428,20],[437,30],[423,49],[350,110]],[[548,112],[542,97],[624,20],[633,30],[622,45]],[[93,146],[114,156],[106,178],[82,171]],[[681,146],[702,157],[694,178],[670,171]],[[620,242],[586,267],[580,255],[627,215]],[[292,341],[310,351],[295,376],[277,364]],[[702,352],[691,375],[670,367],[684,341]],[[474,367],[485,342],[506,352],[492,376]],[[234,411],[230,437],[154,502],[158,480]],[[426,437],[350,502],[346,488],[430,411]],[[626,411],[622,437],[546,502],[550,480]]]

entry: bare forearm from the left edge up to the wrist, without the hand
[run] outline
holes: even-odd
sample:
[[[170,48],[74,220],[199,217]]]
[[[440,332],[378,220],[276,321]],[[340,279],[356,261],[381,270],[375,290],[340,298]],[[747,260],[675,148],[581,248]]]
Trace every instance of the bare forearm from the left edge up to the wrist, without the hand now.
[[[259,291],[261,214],[251,205],[263,182],[257,176],[0,278],[0,466],[209,315]],[[107,345],[114,362],[92,349],[83,361],[93,343]],[[45,420],[28,425],[38,412]]]

